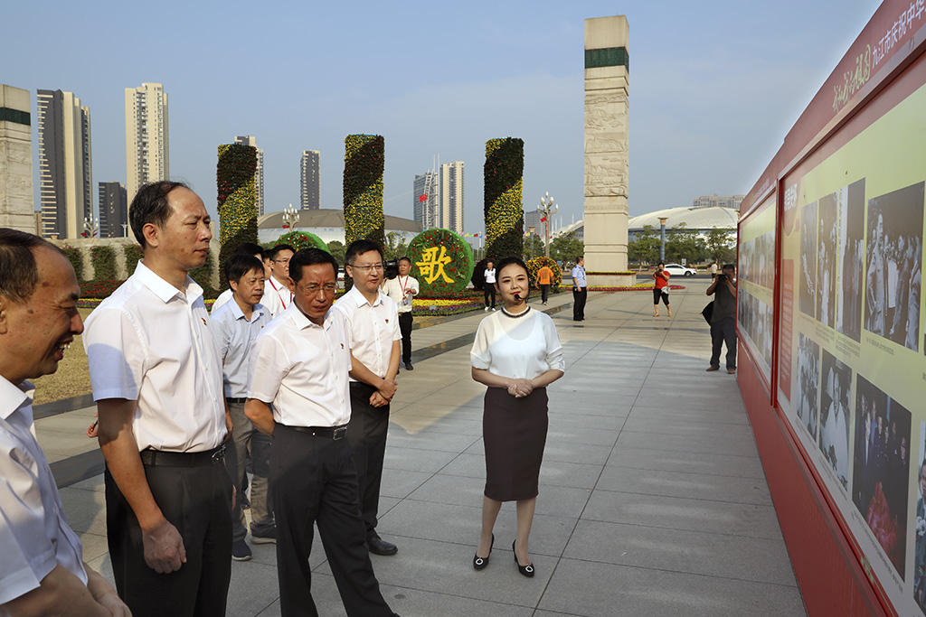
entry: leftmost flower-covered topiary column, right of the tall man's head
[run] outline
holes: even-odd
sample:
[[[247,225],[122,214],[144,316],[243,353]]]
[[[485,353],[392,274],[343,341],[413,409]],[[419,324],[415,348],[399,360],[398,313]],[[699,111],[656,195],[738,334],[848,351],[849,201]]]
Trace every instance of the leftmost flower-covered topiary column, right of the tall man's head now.
[[[228,288],[225,260],[242,242],[257,243],[257,148],[242,143],[219,146],[219,288]]]

